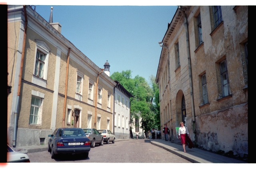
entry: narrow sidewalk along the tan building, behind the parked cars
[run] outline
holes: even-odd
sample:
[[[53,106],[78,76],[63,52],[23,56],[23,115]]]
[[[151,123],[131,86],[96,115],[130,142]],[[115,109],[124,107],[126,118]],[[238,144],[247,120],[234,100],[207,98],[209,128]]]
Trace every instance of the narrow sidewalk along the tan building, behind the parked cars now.
[[[135,139],[116,139],[115,142],[118,141],[128,141],[128,140],[135,140]],[[11,146],[12,147],[12,146]],[[35,153],[35,152],[40,152],[40,151],[47,151],[48,150],[48,145],[33,145],[33,146],[28,146],[28,147],[12,147],[14,151],[18,151],[20,153]]]

